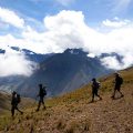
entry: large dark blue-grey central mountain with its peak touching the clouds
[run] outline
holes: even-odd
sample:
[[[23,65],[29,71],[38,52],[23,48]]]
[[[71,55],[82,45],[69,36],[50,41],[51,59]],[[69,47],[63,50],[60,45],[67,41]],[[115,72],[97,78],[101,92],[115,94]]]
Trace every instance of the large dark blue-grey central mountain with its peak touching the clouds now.
[[[40,63],[40,69],[27,79],[18,91],[24,96],[35,96],[38,84],[48,85],[49,95],[59,95],[83,86],[92,78],[109,74],[99,58],[89,58],[81,49],[68,49]]]

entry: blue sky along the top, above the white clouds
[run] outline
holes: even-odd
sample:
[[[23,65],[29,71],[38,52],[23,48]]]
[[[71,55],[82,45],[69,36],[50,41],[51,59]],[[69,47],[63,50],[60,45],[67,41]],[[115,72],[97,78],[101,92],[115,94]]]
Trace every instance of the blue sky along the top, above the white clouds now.
[[[61,10],[76,10],[82,11],[86,22],[92,24],[114,17],[132,19],[133,14],[132,0],[0,0],[0,7],[39,21]]]

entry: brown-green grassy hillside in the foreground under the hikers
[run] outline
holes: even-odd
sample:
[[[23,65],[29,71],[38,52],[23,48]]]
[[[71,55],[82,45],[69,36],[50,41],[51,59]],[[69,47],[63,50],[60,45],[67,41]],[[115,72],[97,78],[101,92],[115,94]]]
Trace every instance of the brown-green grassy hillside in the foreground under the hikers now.
[[[47,101],[47,111],[29,108],[23,115],[0,120],[1,130],[9,133],[132,133],[133,68],[121,72],[124,98],[111,100],[113,75],[101,78],[102,101],[91,101],[90,84],[72,93]],[[119,96],[119,95],[117,95]],[[2,123],[2,124],[1,124]],[[3,131],[1,131],[3,132]]]

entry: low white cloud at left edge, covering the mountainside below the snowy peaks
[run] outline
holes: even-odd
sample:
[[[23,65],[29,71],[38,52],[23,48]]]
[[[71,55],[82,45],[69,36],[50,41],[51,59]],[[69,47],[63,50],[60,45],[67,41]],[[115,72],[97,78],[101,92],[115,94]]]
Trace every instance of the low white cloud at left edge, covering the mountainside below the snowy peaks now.
[[[6,51],[6,54],[0,54],[0,76],[32,74],[37,68],[34,62],[28,61],[24,54],[9,48]]]

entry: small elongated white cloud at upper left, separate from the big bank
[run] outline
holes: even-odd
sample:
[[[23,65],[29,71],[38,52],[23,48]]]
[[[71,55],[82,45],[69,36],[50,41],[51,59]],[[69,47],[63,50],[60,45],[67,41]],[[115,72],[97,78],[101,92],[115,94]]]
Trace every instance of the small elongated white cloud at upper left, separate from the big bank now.
[[[16,12],[4,8],[0,8],[0,21],[11,24],[16,28],[24,27],[24,20],[22,18],[20,18]]]

